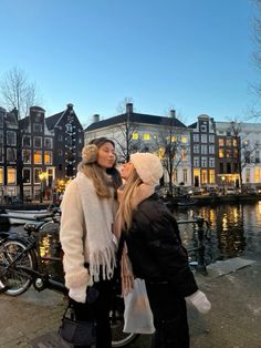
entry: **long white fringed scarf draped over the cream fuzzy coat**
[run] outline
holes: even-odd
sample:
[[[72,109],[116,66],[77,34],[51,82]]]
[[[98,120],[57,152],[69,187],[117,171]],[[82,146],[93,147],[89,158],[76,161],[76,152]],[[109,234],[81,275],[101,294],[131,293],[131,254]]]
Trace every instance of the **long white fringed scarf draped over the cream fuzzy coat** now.
[[[111,198],[98,197],[93,182],[81,172],[75,181],[86,226],[84,247],[91,279],[98,282],[100,276],[103,279],[112,279],[116,267],[116,244],[113,235],[114,195],[112,194]]]

